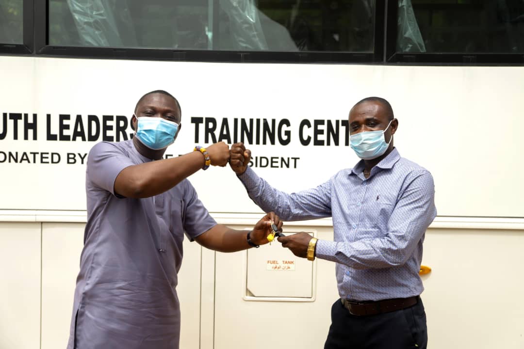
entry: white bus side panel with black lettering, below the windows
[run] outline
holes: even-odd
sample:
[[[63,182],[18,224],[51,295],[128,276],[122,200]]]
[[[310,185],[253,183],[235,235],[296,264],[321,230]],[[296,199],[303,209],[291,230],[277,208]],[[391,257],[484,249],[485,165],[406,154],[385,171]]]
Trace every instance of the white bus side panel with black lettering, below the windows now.
[[[85,160],[130,137],[138,98],[176,96],[182,130],[169,156],[243,139],[255,171],[294,192],[356,155],[350,108],[389,100],[401,156],[435,181],[424,242],[429,347],[524,348],[524,67],[191,63],[0,57],[0,348],[64,348],[79,270]],[[206,139],[207,137],[207,139]],[[214,137],[214,139],[213,139]],[[220,223],[261,216],[230,168],[191,176]],[[285,231],[333,239],[332,221]],[[319,348],[337,298],[334,263],[278,242],[215,253],[184,242],[181,348]],[[271,268],[290,265],[289,268]]]

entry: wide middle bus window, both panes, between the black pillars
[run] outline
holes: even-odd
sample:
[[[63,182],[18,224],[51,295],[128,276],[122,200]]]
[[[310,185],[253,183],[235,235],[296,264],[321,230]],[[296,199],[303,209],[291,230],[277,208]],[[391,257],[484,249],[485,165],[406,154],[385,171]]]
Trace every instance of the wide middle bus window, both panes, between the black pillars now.
[[[63,46],[372,52],[374,0],[51,0]]]

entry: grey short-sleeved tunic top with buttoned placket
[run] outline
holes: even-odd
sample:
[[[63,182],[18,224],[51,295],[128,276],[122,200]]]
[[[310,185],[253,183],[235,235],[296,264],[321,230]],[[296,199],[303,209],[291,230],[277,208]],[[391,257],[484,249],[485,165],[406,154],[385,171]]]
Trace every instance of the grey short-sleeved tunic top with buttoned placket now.
[[[89,153],[68,349],[178,348],[183,233],[193,240],[216,222],[187,179],[150,198],[115,195],[117,175],[149,161],[132,140],[97,143]]]

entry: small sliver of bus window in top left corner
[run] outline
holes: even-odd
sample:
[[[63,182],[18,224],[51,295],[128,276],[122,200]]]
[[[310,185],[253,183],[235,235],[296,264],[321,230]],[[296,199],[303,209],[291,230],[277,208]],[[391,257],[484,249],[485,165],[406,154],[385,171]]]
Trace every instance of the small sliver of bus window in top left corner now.
[[[0,43],[23,43],[23,0],[0,0]]]

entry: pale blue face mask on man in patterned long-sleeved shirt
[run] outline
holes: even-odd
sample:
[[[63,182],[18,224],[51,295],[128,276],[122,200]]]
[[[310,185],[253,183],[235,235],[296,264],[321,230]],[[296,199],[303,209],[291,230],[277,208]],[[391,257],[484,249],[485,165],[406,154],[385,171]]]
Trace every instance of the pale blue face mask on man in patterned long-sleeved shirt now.
[[[384,130],[359,132],[350,135],[350,146],[358,157],[364,160],[372,160],[386,152],[393,136],[391,135],[389,143],[386,143],[384,132],[391,125],[391,121],[389,121],[388,127]]]

